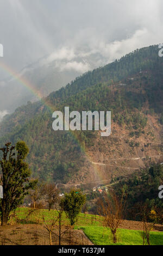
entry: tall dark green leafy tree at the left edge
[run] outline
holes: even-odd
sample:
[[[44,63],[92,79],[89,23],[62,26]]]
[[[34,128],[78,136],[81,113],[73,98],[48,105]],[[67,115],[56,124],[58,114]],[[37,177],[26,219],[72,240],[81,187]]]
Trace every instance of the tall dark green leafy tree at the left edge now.
[[[22,204],[24,196],[34,181],[29,180],[30,169],[25,159],[28,147],[25,142],[17,142],[16,147],[11,143],[0,149],[3,157],[0,160],[2,172],[3,199],[0,199],[1,225],[6,225],[12,210]]]

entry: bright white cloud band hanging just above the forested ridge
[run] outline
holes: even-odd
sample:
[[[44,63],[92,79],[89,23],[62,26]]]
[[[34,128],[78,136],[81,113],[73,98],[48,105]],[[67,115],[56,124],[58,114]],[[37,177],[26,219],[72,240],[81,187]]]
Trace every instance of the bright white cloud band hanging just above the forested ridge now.
[[[90,29],[87,32],[91,33]],[[83,33],[82,33],[83,34]],[[93,35],[90,36],[91,40],[87,38],[87,47],[78,49],[79,44],[74,42],[72,47],[61,47],[49,54],[49,56],[42,58],[39,62],[40,66],[52,64],[55,62],[55,66],[59,68],[60,71],[64,70],[76,70],[78,72],[86,72],[94,67],[105,65],[113,62],[115,59],[119,59],[125,54],[134,51],[136,48],[145,47],[151,44],[155,44],[155,38],[149,40],[150,35],[147,28],[137,29],[133,34],[127,35],[126,39],[115,40],[107,42],[105,39]],[[79,38],[82,41],[81,34]],[[74,39],[75,41],[75,39]],[[99,54],[99,57],[94,61],[93,66],[89,63],[84,62],[84,58],[92,58],[93,55]],[[82,58],[83,62],[80,60],[74,61],[74,59]],[[93,61],[92,61],[93,62]],[[38,65],[38,64],[37,64]],[[32,68],[30,68],[32,69]],[[29,70],[30,70],[29,69]],[[23,73],[26,71],[23,70]]]

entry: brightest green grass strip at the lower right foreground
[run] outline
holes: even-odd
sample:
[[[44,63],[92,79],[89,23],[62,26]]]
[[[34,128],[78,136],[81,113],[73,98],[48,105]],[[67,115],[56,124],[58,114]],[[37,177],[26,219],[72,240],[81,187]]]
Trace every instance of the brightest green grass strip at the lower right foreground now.
[[[140,230],[118,229],[117,243],[113,243],[110,230],[90,226],[80,228],[95,245],[142,245],[143,232]],[[163,233],[152,231],[150,241],[151,245],[162,245]]]

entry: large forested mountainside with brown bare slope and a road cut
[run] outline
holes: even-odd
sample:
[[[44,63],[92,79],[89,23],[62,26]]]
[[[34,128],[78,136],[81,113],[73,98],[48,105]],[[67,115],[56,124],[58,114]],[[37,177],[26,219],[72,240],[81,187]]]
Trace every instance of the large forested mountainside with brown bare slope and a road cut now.
[[[43,101],[29,102],[6,116],[1,146],[26,141],[33,176],[61,183],[111,180],[147,166],[152,156],[161,161],[162,64],[158,46],[150,46],[87,72]],[[111,135],[53,131],[52,112],[65,106],[79,112],[111,111]]]

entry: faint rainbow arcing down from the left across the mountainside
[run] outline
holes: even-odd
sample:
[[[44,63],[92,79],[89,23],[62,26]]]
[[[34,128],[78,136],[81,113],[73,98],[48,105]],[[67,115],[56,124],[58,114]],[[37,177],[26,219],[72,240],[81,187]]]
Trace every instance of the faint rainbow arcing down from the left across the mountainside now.
[[[6,65],[2,62],[0,62],[0,68],[3,69],[5,72],[7,72],[7,74],[11,77],[13,77],[15,80],[18,81],[18,83],[22,84],[23,87],[26,87],[30,92],[32,92],[33,95],[36,96],[36,98],[38,100],[40,100],[43,105],[45,105],[50,111],[54,111],[55,107],[46,101],[45,97],[43,97],[43,95],[39,92],[39,90],[37,90],[32,83],[30,83],[26,78],[24,78],[21,74],[18,74],[16,71],[14,71],[13,69],[10,68],[9,65]],[[79,139],[77,138],[76,135],[74,135],[74,133],[70,130],[69,132],[71,132],[71,134],[73,135],[73,137],[76,139],[76,142],[78,143],[80,149],[84,152],[86,159],[92,164],[92,160],[90,159],[90,156],[86,153],[85,150],[83,150],[83,147],[81,146]],[[98,177],[97,182],[104,180],[104,177],[102,175],[102,173],[98,170],[98,168],[96,167],[95,164],[92,164],[93,166],[93,170],[95,172],[95,175]]]

